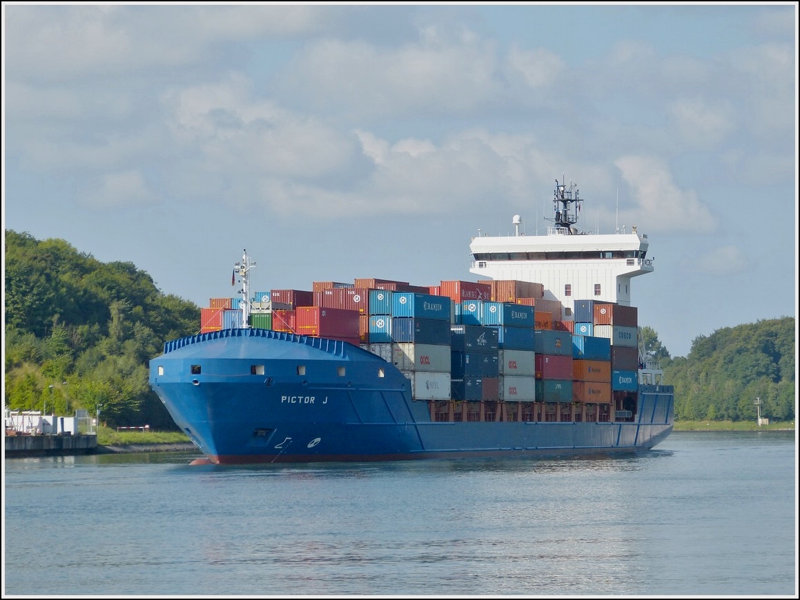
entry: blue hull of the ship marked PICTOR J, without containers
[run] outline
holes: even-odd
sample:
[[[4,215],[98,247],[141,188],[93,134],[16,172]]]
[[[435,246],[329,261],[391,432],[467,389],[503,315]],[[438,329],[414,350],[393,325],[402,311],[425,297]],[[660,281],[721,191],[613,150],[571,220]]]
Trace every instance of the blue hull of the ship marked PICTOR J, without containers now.
[[[632,422],[436,422],[394,365],[352,344],[266,329],[174,340],[150,386],[213,463],[580,455],[648,450],[673,388],[640,386]]]

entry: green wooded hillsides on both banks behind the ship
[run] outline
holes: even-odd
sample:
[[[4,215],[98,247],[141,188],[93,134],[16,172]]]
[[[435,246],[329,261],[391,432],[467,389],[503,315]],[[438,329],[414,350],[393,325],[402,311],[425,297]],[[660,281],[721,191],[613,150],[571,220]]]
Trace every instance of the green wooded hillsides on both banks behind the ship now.
[[[117,425],[175,429],[150,389],[149,362],[166,340],[198,332],[200,308],[165,295],[130,262],[102,263],[64,240],[6,229],[5,404]],[[645,348],[675,387],[677,419],[794,419],[794,317],[699,336],[670,357],[658,332]]]

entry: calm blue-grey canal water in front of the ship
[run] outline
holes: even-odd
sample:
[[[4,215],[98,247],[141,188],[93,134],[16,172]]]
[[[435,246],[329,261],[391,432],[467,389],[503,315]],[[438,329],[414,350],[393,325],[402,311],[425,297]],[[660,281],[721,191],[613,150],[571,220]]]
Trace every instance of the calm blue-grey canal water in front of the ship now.
[[[798,592],[794,432],[613,459],[196,456],[6,460],[4,596]]]

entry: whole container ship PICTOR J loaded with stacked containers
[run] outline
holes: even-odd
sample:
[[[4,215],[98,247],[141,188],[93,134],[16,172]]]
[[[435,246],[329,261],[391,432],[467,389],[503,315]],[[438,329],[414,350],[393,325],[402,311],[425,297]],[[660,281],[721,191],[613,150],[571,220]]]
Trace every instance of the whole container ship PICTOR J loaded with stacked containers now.
[[[578,227],[573,183],[547,235],[472,238],[477,280],[314,281],[234,298],[164,344],[150,386],[216,464],[650,450],[674,390],[645,352],[631,280],[647,236]]]

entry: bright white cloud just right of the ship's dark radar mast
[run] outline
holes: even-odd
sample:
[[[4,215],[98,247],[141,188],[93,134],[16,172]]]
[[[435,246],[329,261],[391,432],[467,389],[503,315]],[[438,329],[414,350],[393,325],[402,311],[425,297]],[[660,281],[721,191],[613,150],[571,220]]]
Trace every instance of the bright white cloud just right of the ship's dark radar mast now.
[[[678,188],[666,164],[655,157],[627,156],[615,163],[630,187],[634,210],[620,212],[620,222],[650,231],[712,232],[716,218],[691,190]]]

